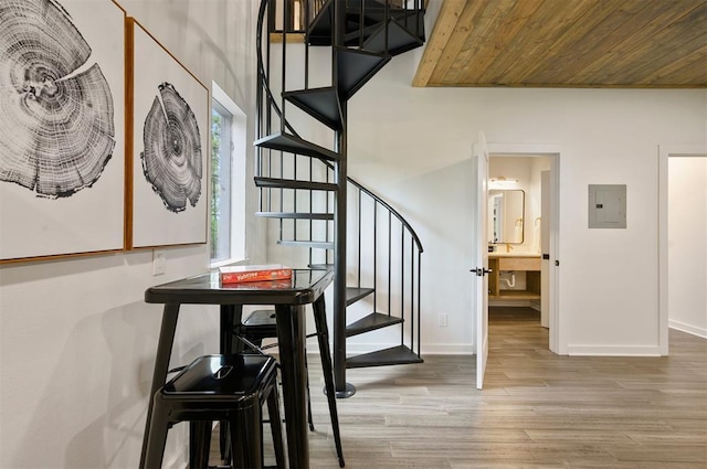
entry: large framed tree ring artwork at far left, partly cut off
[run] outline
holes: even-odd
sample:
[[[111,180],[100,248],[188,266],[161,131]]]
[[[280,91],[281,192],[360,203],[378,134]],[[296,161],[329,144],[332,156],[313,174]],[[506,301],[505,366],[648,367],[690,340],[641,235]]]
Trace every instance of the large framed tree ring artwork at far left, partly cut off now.
[[[124,249],[125,19],[0,0],[0,263]]]

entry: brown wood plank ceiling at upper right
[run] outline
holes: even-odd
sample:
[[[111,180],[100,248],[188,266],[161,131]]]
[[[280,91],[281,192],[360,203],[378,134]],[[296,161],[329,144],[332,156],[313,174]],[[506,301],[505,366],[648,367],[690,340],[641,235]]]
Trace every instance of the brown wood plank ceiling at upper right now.
[[[707,0],[443,0],[413,86],[707,87]]]

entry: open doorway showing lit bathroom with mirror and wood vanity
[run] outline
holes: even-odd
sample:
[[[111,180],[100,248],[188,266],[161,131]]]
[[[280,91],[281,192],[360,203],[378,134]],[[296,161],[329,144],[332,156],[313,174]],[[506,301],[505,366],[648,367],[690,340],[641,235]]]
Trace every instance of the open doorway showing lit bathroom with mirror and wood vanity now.
[[[507,236],[499,238],[498,231],[489,238],[495,239],[494,251],[489,260],[497,258],[494,264],[497,275],[493,278],[503,285],[495,285],[489,290],[489,315],[500,318],[513,316],[515,312],[527,318],[535,318],[537,327],[546,328],[549,332],[549,349],[555,353],[562,353],[560,347],[560,318],[558,315],[558,274],[556,266],[559,245],[559,151],[542,151],[538,149],[519,149],[511,146],[489,145],[489,190],[496,181],[502,181],[506,190],[521,193],[524,206],[521,215],[510,216],[505,207]],[[556,149],[553,149],[556,150]],[[542,206],[542,179],[546,172],[546,206]],[[513,185],[513,186],[511,186]],[[503,194],[510,192],[503,192]],[[489,193],[495,195],[495,193]],[[515,195],[514,195],[515,196]],[[549,199],[549,203],[548,202]],[[490,200],[499,204],[497,198]],[[490,210],[493,207],[489,206]],[[498,210],[498,206],[497,206]],[[544,216],[544,211],[545,216]],[[492,212],[493,216],[493,212]],[[519,230],[518,220],[521,220]],[[544,220],[545,218],[545,220]],[[513,222],[511,226],[509,223]],[[489,224],[494,226],[493,221]],[[499,226],[499,223],[496,223]],[[504,230],[500,230],[504,233]],[[542,242],[545,237],[545,243]],[[526,257],[527,256],[527,257]],[[504,259],[504,260],[500,260]],[[489,263],[490,265],[490,263]],[[539,268],[541,266],[541,268]],[[493,268],[493,266],[492,266]],[[493,281],[489,279],[489,284]],[[499,292],[502,292],[499,295]],[[494,295],[495,294],[495,295]],[[515,309],[514,308],[518,308]],[[541,321],[541,317],[542,318]]]

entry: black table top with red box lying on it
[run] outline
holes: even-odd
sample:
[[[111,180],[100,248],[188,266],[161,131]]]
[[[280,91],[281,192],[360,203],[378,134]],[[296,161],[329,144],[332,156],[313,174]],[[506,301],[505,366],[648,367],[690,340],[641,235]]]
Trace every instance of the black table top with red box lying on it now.
[[[289,280],[222,285],[219,270],[150,287],[148,303],[190,305],[307,305],[334,279],[331,269],[293,269]]]

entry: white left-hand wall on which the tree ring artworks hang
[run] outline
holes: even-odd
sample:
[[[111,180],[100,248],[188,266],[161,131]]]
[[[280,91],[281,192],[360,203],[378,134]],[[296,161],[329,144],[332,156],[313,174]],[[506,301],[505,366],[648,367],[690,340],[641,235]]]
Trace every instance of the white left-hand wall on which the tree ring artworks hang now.
[[[87,0],[85,8],[98,1],[107,0]],[[229,93],[250,116],[252,141],[257,1],[123,6],[208,87],[214,79]],[[252,174],[251,142],[247,148]],[[264,224],[251,216],[246,231],[250,257],[264,260]],[[161,318],[144,291],[209,264],[205,245],[166,255],[167,273],[157,277],[151,251],[0,267],[1,468],[137,467]],[[184,311],[175,363],[218,350],[217,310]],[[171,467],[184,467],[183,441],[183,433],[170,439]]]

